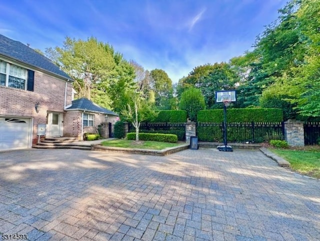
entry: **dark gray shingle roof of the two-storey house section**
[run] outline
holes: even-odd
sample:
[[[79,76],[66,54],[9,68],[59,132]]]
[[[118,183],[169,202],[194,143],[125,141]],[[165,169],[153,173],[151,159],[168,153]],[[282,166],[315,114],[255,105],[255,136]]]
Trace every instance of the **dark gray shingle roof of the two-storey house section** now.
[[[22,42],[15,41],[0,34],[0,54],[34,66],[62,78],[70,79],[71,77],[63,72],[57,65],[55,65],[49,58],[34,51],[32,48],[23,44]]]

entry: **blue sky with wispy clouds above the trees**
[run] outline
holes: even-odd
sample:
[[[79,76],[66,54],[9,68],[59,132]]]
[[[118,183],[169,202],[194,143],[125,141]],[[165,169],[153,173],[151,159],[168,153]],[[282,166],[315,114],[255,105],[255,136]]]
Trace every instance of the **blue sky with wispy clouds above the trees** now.
[[[108,42],[173,82],[254,43],[286,0],[1,0],[0,33],[44,51],[65,36]]]

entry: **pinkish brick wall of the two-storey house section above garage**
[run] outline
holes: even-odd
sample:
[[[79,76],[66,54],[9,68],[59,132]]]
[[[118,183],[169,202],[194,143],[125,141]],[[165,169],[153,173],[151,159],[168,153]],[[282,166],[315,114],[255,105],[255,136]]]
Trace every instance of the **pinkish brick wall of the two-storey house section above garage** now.
[[[71,104],[71,83],[67,83],[66,104]],[[65,81],[43,72],[34,72],[34,91],[0,86],[0,114],[33,117],[32,143],[37,140],[37,124],[45,124],[47,112],[63,113]],[[38,113],[35,103],[39,103]]]

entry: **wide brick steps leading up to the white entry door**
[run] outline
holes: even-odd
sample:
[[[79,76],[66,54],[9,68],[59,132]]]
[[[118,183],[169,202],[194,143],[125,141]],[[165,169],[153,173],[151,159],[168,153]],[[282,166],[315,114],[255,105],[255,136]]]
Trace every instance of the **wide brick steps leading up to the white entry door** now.
[[[50,137],[41,140],[41,142],[32,145],[32,148],[44,148],[44,149],[83,149],[90,150],[91,144],[85,144],[78,141],[75,137]]]

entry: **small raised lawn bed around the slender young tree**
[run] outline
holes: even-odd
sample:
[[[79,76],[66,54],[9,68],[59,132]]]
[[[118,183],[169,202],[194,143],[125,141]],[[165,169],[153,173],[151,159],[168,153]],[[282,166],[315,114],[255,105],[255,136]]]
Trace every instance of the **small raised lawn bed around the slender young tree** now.
[[[181,143],[168,143],[168,142],[158,142],[158,141],[141,141],[136,143],[134,140],[124,140],[124,139],[114,139],[102,141],[103,146],[113,146],[113,147],[123,147],[123,148],[133,148],[133,149],[152,149],[161,150],[167,147],[173,147],[180,145]]]

